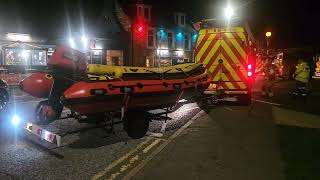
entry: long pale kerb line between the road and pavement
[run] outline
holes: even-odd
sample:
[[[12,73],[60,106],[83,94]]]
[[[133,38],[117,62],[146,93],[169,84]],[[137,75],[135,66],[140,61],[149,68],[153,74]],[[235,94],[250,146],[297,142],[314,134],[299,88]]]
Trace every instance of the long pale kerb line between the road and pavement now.
[[[200,117],[204,111],[200,111],[196,114],[190,121],[188,121],[184,126],[178,129],[174,134],[172,134],[167,141],[162,143],[157,149],[155,149],[150,155],[148,155],[140,164],[135,166],[126,176],[124,176],[123,180],[130,180],[134,175],[136,175],[149,161],[152,160],[157,154],[159,154],[170,142],[172,142],[177,136],[179,136],[185,129],[187,129],[198,117]]]

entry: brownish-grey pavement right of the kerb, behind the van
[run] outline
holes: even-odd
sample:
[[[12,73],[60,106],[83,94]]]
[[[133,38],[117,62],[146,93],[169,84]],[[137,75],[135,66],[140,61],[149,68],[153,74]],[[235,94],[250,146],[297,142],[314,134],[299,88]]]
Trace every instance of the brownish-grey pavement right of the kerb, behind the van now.
[[[133,179],[284,179],[269,105],[204,112]]]

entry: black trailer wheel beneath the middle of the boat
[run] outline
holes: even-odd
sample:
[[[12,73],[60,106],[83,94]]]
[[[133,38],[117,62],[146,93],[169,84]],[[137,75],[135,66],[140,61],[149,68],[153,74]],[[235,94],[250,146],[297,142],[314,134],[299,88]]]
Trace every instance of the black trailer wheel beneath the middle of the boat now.
[[[130,111],[126,113],[123,125],[128,136],[139,139],[146,135],[149,129],[149,117],[145,111]]]

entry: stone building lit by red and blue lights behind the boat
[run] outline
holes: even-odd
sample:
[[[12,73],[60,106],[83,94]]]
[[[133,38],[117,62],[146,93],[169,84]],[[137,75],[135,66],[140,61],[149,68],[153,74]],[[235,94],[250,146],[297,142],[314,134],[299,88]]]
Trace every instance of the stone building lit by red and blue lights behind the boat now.
[[[192,53],[197,33],[183,12],[152,11],[151,4],[136,3],[125,8],[132,24],[143,22],[142,36],[132,27],[132,64],[142,67],[162,67],[193,62]],[[153,18],[153,15],[156,17]]]

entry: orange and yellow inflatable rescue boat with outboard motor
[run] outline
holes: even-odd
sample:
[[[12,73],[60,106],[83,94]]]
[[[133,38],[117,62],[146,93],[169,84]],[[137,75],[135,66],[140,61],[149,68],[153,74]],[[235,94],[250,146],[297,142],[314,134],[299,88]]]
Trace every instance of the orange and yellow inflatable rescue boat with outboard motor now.
[[[47,99],[36,108],[39,122],[59,118],[63,107],[86,116],[120,111],[139,116],[151,109],[173,107],[181,98],[201,96],[210,84],[201,64],[146,68],[85,62],[84,54],[58,47],[47,70],[20,82],[26,93]]]

